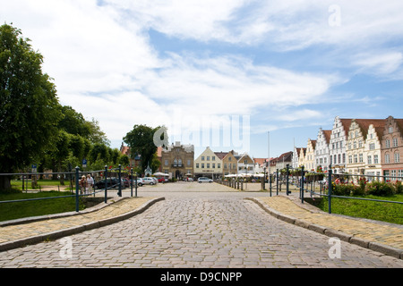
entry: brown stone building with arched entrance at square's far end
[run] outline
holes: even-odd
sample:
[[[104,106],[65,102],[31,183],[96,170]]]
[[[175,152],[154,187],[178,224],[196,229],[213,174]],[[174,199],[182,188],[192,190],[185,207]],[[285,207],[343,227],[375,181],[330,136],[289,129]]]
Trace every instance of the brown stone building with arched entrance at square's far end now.
[[[170,178],[183,180],[193,177],[194,146],[182,145],[181,142],[172,143],[161,150],[162,172],[169,174]]]

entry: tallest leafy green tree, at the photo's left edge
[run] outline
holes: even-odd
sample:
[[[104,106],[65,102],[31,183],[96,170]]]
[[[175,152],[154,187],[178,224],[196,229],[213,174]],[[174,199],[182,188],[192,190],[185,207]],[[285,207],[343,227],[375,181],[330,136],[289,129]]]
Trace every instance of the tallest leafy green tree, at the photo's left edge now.
[[[56,87],[43,57],[21,30],[0,26],[0,172],[16,172],[52,149],[61,119]],[[10,189],[0,176],[0,189]]]

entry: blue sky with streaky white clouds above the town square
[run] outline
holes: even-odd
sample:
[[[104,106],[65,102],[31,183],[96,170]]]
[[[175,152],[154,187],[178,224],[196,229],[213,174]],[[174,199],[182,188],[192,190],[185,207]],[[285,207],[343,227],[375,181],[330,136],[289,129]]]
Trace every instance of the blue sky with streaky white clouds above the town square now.
[[[134,124],[255,157],[344,118],[401,118],[403,2],[0,0],[61,104],[112,147]],[[268,135],[270,132],[270,136]],[[270,146],[269,146],[270,138]]]

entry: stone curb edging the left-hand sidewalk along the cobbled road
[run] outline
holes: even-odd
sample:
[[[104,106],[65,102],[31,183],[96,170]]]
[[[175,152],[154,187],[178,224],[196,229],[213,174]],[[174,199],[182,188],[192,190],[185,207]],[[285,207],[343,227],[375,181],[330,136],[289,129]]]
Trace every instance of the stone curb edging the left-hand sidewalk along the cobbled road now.
[[[44,234],[40,234],[38,236],[33,236],[29,238],[24,238],[21,240],[13,240],[13,241],[7,241],[4,243],[0,243],[0,252],[2,251],[7,251],[13,248],[23,248],[26,247],[27,245],[32,245],[36,243],[40,243],[46,240],[58,240],[60,238],[63,238],[65,236],[70,236],[73,234],[77,234],[83,231],[90,231],[93,229],[97,229],[99,227],[107,226],[109,224],[113,223],[118,223],[121,221],[124,221],[128,218],[133,217],[134,215],[141,214],[145,210],[147,210],[150,206],[153,206],[154,204],[158,203],[161,200],[165,200],[165,198],[154,198],[151,199],[150,201],[142,204],[132,212],[128,212],[125,214],[120,214],[116,215],[114,217],[110,217],[107,219],[99,220],[96,222],[91,222],[91,223],[85,223],[81,224],[79,226],[74,226],[72,228],[64,229],[64,230],[59,230],[59,231],[52,231],[52,232],[47,232]]]

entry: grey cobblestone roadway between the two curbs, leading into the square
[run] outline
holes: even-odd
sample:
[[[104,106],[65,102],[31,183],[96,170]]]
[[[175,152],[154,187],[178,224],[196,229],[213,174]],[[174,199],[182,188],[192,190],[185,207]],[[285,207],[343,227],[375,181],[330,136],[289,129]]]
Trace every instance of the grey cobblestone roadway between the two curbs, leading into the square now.
[[[244,199],[267,193],[227,190],[196,183],[143,187],[139,196],[166,200],[119,223],[0,252],[0,267],[403,267],[401,259],[345,241],[334,257],[330,237]]]

